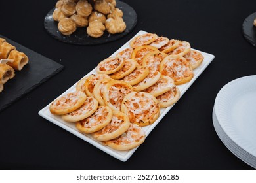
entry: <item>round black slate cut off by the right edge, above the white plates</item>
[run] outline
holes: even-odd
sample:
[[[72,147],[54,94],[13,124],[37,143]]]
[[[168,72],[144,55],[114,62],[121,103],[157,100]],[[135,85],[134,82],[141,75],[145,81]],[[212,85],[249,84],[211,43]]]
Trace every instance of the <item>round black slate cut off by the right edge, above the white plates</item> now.
[[[256,47],[256,27],[253,25],[253,21],[256,18],[256,12],[245,18],[242,25],[242,33],[245,39]]]

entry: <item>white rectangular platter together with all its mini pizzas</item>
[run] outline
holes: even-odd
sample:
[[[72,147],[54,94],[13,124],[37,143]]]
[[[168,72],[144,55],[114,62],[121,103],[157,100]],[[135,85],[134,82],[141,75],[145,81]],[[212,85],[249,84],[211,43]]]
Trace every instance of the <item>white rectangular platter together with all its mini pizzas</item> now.
[[[126,161],[213,58],[140,31],[39,114]]]

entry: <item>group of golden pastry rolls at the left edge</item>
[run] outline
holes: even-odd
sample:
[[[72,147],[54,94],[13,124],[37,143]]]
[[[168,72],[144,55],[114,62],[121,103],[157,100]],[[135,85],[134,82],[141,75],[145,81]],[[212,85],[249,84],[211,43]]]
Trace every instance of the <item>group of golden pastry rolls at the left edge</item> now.
[[[0,37],[0,93],[3,91],[3,84],[14,78],[15,70],[21,71],[26,64],[28,56]]]

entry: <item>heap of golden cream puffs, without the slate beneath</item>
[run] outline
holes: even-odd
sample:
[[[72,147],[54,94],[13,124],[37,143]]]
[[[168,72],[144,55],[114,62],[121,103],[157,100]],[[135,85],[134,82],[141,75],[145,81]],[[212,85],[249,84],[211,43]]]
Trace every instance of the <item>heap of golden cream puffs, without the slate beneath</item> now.
[[[115,34],[126,29],[123,11],[116,8],[116,0],[60,0],[55,7],[53,19],[63,35],[74,33],[77,27],[87,27],[87,34],[95,38],[105,30]]]

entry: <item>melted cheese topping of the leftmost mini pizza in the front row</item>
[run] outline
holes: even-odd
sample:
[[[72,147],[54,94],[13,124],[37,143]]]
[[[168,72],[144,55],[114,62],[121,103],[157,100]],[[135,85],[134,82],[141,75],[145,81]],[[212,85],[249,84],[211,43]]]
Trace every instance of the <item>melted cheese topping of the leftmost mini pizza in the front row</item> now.
[[[73,107],[80,97],[80,91],[68,93],[53,102],[54,108],[70,108]]]

